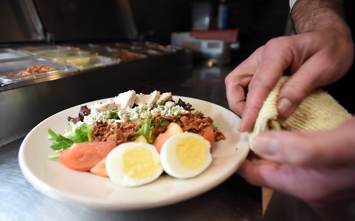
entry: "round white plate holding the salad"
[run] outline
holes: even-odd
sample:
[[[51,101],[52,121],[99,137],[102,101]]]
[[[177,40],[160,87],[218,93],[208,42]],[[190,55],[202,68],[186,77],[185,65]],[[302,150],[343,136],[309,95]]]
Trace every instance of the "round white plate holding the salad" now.
[[[245,133],[237,128],[240,118],[233,112],[207,101],[174,96],[192,104],[205,116],[210,116],[222,131],[226,140],[215,143],[212,163],[201,175],[191,179],[177,179],[160,176],[152,183],[139,187],[120,187],[107,177],[90,172],[70,170],[59,161],[48,160],[55,154],[49,147],[48,128],[64,134],[70,129],[67,116],[76,117],[81,105],[61,111],[39,123],[24,138],[18,159],[20,168],[28,181],[40,192],[67,203],[92,206],[101,209],[145,209],[177,203],[190,199],[218,186],[228,179],[245,160],[249,153]],[[106,101],[107,99],[93,101]]]

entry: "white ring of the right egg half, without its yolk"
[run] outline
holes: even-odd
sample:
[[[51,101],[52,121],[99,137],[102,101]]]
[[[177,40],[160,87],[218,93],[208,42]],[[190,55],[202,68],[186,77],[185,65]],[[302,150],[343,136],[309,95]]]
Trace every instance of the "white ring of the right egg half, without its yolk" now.
[[[204,159],[202,165],[200,165],[197,168],[185,167],[180,162],[177,154],[177,149],[178,149],[177,144],[179,140],[181,138],[187,138],[190,136],[201,140],[203,145],[206,147],[206,153],[205,153],[206,159]],[[163,147],[160,150],[160,161],[162,163],[164,171],[168,173],[170,176],[173,176],[175,178],[181,178],[181,179],[195,177],[197,175],[200,175],[203,171],[205,171],[207,167],[211,164],[212,156],[211,156],[210,148],[211,148],[211,143],[206,139],[204,139],[199,134],[189,133],[189,132],[175,134],[171,136],[168,140],[166,140],[165,143],[163,144]]]

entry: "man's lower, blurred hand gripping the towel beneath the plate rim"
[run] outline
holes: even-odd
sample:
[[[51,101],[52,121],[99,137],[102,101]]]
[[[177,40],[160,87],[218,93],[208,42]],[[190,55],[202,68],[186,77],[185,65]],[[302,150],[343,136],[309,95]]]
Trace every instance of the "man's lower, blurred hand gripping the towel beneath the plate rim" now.
[[[237,173],[249,183],[310,204],[355,197],[355,117],[329,131],[269,131],[254,140],[256,155]]]

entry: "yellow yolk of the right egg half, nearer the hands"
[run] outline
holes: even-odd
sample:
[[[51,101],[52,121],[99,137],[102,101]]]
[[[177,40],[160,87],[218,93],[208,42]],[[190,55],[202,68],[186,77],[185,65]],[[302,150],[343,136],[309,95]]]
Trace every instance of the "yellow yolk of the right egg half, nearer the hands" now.
[[[197,137],[181,137],[176,147],[178,159],[186,168],[198,168],[206,160],[206,145]]]

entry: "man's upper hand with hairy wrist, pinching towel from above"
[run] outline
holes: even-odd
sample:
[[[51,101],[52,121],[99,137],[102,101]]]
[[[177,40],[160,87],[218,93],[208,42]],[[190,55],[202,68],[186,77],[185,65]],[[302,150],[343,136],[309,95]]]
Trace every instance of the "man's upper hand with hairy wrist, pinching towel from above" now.
[[[289,70],[292,75],[280,89],[280,117],[288,117],[315,88],[343,77],[353,62],[354,44],[342,16],[328,7],[318,9],[316,16],[313,9],[308,9],[310,22],[307,9],[301,7],[303,2],[296,1],[294,8],[298,13],[293,16],[297,26],[301,27],[297,21],[303,21],[300,34],[271,39],[225,79],[229,107],[242,116],[241,132],[252,129],[263,101],[284,71]]]

